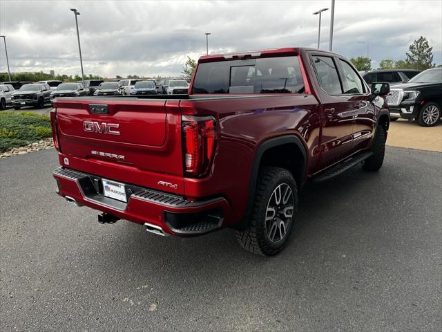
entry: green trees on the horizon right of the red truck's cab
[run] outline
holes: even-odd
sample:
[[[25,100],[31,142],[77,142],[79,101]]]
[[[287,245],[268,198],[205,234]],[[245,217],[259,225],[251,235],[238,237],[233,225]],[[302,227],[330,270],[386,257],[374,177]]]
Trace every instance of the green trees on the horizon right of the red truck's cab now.
[[[433,68],[433,48],[427,42],[425,37],[416,39],[405,53],[405,60],[394,61],[392,59],[383,59],[379,62],[378,69],[417,69],[425,71],[425,69]],[[352,57],[352,64],[358,71],[371,71],[372,59],[369,57]],[[442,65],[439,65],[439,67]]]

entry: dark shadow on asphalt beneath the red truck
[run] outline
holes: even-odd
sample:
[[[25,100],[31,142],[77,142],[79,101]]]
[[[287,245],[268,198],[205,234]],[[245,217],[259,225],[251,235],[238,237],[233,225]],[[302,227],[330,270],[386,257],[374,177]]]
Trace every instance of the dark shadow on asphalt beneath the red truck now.
[[[378,217],[372,205],[385,201],[376,189],[385,181],[384,174],[391,176],[390,169],[374,174],[355,167],[325,183],[308,184],[300,195],[291,241],[275,257],[242,250],[229,229],[191,239],[164,238],[127,221],[119,221],[119,230],[115,230],[119,240],[113,243],[113,250],[99,255],[102,264],[112,262],[120,271],[126,271],[123,273],[127,278],[138,279],[141,284],[182,290],[189,283],[206,291],[215,282],[242,280],[249,284],[256,273],[263,279],[284,275],[291,279],[294,273],[307,273],[307,266],[315,266],[307,275],[316,270],[323,279],[333,278],[340,264],[327,270],[325,261],[341,261],[351,250],[361,250],[354,255],[364,255],[376,242],[366,235],[372,232],[372,222]]]

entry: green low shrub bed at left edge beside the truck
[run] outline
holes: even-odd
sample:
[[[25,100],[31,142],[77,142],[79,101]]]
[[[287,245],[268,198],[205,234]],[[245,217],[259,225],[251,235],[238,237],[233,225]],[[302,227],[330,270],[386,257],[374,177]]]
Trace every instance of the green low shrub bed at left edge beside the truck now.
[[[0,152],[51,136],[48,116],[31,112],[0,112]]]

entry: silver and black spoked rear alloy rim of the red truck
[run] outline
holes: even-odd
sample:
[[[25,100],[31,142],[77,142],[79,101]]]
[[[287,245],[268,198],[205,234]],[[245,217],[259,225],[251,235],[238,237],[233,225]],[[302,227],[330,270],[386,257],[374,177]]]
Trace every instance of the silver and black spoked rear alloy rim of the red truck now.
[[[294,212],[294,195],[287,183],[273,190],[267,203],[265,230],[269,241],[277,243],[284,239]]]

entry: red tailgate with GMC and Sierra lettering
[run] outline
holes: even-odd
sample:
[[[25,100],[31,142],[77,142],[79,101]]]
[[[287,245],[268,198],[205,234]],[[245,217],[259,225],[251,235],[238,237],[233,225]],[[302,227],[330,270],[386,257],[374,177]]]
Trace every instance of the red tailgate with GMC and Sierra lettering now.
[[[178,105],[164,99],[58,99],[61,161],[66,156],[68,168],[184,194]]]

